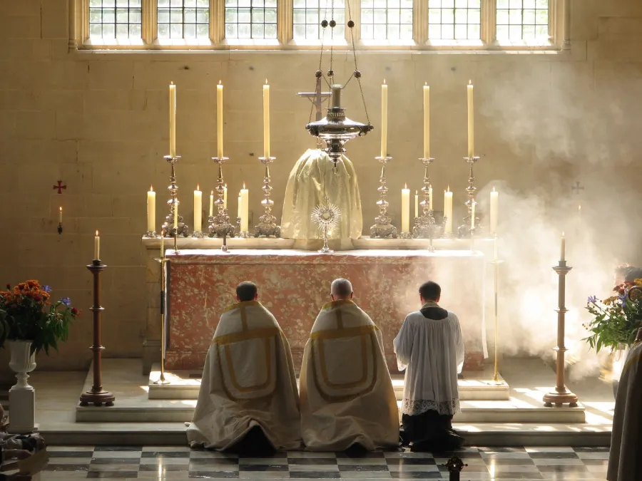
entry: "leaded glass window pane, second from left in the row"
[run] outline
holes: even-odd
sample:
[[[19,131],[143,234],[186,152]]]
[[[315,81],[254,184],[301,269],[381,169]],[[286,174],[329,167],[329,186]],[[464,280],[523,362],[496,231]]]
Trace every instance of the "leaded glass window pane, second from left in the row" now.
[[[209,0],[158,0],[158,38],[209,38]]]

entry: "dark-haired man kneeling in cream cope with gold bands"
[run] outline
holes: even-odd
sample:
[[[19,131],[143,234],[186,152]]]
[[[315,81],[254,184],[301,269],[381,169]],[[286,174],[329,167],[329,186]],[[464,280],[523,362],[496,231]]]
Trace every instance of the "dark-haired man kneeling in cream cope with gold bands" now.
[[[239,453],[300,448],[299,396],[292,353],[255,284],[236,288],[205,358],[190,427],[191,446]]]

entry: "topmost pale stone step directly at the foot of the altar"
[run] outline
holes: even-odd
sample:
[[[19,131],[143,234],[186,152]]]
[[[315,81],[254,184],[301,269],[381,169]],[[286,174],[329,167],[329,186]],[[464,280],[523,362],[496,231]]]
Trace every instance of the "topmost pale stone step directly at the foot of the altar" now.
[[[149,375],[149,399],[165,400],[195,400],[198,398],[200,388],[201,371],[168,371],[165,373],[167,384],[159,384],[158,378],[161,377],[160,366],[152,366]],[[504,401],[510,399],[509,385],[504,378],[499,376],[499,382],[492,382],[493,370],[491,367],[484,371],[466,371],[464,378],[460,379],[459,399],[464,401]],[[297,376],[297,385],[299,378]],[[404,396],[404,376],[394,374],[392,376],[392,386],[397,400],[402,400]]]

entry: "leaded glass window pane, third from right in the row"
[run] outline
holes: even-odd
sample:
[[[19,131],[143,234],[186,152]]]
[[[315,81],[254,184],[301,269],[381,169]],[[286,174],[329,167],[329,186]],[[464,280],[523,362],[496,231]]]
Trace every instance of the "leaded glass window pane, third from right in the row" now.
[[[412,40],[412,0],[362,0],[361,38]]]

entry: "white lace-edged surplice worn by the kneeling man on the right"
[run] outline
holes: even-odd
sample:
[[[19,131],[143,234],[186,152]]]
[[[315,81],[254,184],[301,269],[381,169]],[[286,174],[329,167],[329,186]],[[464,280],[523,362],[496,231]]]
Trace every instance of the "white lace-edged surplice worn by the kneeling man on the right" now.
[[[403,414],[459,412],[457,373],[464,365],[464,339],[457,316],[448,311],[445,319],[435,320],[411,312],[394,338],[394,353],[399,371],[406,371]]]

